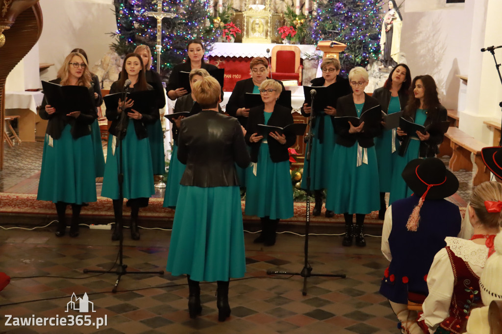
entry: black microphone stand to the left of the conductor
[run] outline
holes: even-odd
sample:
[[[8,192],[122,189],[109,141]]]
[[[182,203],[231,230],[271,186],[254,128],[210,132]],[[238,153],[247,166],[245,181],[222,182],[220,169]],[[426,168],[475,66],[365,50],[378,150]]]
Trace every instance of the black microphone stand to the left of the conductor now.
[[[117,224],[117,233],[118,233],[118,266],[117,269],[115,270],[115,274],[118,275],[117,280],[115,281],[115,285],[113,286],[113,289],[111,292],[115,293],[117,292],[117,287],[118,283],[120,282],[120,278],[122,275],[126,274],[159,274],[163,275],[164,271],[127,271],[127,264],[123,264],[123,219],[122,219],[122,213],[123,213],[123,180],[124,180],[124,174],[123,174],[123,155],[122,155],[122,140],[123,138],[126,137],[127,134],[127,127],[129,120],[127,119],[127,112],[126,112],[126,98],[127,98],[127,93],[129,90],[129,86],[124,87],[124,90],[122,92],[122,105],[120,106],[120,109],[122,110],[120,114],[120,119],[118,121],[118,124],[116,126],[117,130],[117,141],[115,145],[118,147],[118,199],[120,201],[120,214],[118,217],[116,217],[116,222]],[[89,270],[89,269],[84,269],[84,273],[110,273],[112,274],[113,272],[109,270]]]

